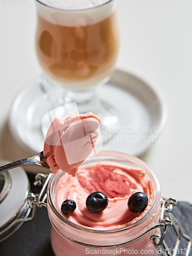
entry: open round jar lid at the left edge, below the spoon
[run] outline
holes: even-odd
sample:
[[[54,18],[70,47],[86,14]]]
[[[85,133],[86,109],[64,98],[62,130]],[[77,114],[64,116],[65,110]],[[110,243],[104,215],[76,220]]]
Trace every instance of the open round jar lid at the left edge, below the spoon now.
[[[0,160],[0,164],[7,162]],[[13,222],[28,215],[27,197],[30,185],[25,170],[21,167],[0,175],[0,242],[9,237],[22,222]]]

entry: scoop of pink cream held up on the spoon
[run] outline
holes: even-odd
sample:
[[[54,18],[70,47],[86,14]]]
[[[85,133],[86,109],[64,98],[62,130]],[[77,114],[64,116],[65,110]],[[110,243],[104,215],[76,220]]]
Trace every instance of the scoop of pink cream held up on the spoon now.
[[[53,173],[59,169],[73,177],[79,165],[91,154],[99,135],[100,119],[87,114],[56,117],[51,123],[44,143],[44,156]]]

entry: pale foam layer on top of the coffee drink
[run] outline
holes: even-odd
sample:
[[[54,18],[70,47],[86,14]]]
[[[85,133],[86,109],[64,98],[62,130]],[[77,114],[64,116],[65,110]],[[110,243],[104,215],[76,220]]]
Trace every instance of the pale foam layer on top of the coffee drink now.
[[[103,5],[109,0],[42,0],[41,2],[46,5],[36,2],[38,14],[48,22],[60,26],[88,26],[98,23],[109,17],[116,9],[116,1]]]

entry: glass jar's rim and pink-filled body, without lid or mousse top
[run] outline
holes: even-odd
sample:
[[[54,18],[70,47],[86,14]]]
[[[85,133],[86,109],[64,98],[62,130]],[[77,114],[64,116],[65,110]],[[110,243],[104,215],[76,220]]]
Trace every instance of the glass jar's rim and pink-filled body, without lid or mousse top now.
[[[69,221],[61,214],[55,203],[58,181],[63,172],[53,175],[47,189],[47,208],[52,223],[51,244],[56,256],[82,256],[87,254],[145,254],[156,255],[157,250],[150,241],[158,224],[161,208],[160,185],[155,174],[140,159],[119,152],[102,151],[87,159],[81,167],[97,163],[120,164],[144,170],[145,177],[152,182],[154,200],[147,213],[134,224],[113,230],[95,230]]]

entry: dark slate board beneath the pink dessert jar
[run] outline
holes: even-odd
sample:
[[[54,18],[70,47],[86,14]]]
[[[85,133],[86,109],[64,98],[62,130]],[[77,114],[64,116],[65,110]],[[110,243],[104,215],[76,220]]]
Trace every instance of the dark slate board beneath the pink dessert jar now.
[[[30,176],[33,179],[32,176]],[[32,187],[32,191],[35,188]],[[173,209],[174,215],[182,224],[183,231],[192,237],[192,205],[179,202]],[[176,236],[168,228],[166,243],[172,249]],[[34,220],[24,223],[11,237],[0,243],[1,256],[53,256],[50,244],[51,224],[45,207],[38,208]],[[185,240],[181,241],[181,248],[186,248]],[[160,254],[157,254],[160,255]],[[182,255],[181,250],[178,255]],[[184,254],[183,254],[184,255]],[[192,252],[190,252],[192,256]],[[70,255],[65,255],[70,256]],[[78,255],[77,255],[78,256]]]

